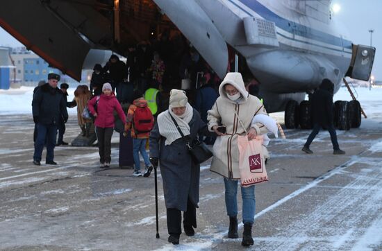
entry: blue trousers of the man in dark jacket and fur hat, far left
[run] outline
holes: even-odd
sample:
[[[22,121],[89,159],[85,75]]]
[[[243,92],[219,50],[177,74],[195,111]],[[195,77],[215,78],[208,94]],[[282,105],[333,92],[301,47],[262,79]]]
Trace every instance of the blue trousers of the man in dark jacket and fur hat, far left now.
[[[47,162],[52,162],[54,159],[54,146],[56,146],[57,126],[44,125],[38,123],[38,134],[35,142],[35,153],[33,160],[41,161],[42,150],[44,150],[45,141],[47,141]]]

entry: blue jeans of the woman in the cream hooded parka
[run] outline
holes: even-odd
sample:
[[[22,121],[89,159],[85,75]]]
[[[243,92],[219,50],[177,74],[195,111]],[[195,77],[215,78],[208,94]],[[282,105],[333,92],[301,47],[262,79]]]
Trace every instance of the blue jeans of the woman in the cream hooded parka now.
[[[238,180],[224,178],[226,188],[226,209],[228,216],[238,215]],[[242,223],[254,223],[255,217],[255,186],[242,189]]]

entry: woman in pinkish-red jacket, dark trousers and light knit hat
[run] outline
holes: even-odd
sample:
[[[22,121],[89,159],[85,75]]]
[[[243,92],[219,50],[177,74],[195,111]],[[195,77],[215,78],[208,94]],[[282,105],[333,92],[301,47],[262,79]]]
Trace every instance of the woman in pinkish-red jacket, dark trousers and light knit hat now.
[[[126,116],[113,94],[110,83],[104,83],[101,96],[95,96],[88,102],[88,108],[95,117],[96,135],[99,149],[99,162],[102,168],[109,168],[111,162],[111,137],[114,130],[114,111],[119,119],[126,123]],[[96,106],[97,105],[97,106]],[[96,110],[97,107],[97,110]]]

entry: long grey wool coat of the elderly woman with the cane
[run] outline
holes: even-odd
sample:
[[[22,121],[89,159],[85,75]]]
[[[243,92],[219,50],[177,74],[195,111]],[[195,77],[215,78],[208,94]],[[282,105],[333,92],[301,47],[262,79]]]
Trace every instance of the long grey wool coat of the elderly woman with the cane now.
[[[199,112],[194,109],[193,113],[188,124],[190,137],[195,139],[198,134],[208,133],[208,128]],[[165,140],[159,133],[158,123],[155,123],[150,132],[150,156],[159,158],[166,208],[186,211],[188,198],[198,207],[200,165],[192,161],[184,139],[176,139],[167,146]]]

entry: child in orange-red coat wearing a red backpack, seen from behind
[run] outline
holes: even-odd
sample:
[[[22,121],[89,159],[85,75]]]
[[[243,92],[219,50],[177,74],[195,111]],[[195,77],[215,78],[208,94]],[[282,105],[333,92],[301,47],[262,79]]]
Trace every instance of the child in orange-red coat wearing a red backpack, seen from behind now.
[[[149,139],[150,131],[153,128],[154,119],[147,105],[147,101],[144,100],[140,92],[134,92],[133,100],[133,105],[128,107],[124,135],[130,130],[131,137],[133,138],[133,157],[135,164],[133,175],[135,177],[142,176],[140,172],[140,153],[146,165],[143,176],[149,177],[153,166],[151,166],[149,156],[146,153],[146,143]]]

